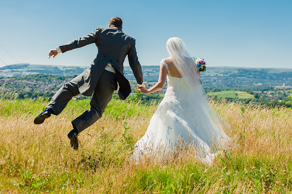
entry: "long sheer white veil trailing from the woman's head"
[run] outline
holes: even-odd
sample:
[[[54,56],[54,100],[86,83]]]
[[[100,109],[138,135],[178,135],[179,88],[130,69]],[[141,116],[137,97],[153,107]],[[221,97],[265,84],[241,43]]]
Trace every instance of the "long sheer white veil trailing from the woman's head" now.
[[[187,50],[184,41],[180,38],[174,37],[168,39],[167,51],[175,64],[175,67],[178,69],[182,78],[185,80],[189,86],[191,96],[193,96],[193,103],[189,104],[188,109],[196,111],[200,109],[205,112],[204,120],[199,122],[211,122],[214,128],[217,130],[218,136],[217,141],[222,141],[223,139],[228,140],[229,137],[224,133],[223,127],[226,130],[230,130],[231,127],[229,124],[212,108],[206,93],[202,87],[202,84],[199,80],[199,72],[197,70],[196,63],[194,62],[192,56]],[[189,118],[192,121],[192,118]],[[220,139],[218,139],[220,138]]]

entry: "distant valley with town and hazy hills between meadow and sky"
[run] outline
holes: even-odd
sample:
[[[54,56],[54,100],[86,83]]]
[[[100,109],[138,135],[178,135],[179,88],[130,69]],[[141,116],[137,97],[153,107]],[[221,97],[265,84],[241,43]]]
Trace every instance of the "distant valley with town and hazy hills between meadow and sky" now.
[[[88,67],[15,64],[0,68],[0,87],[15,90],[19,98],[51,98],[61,85],[82,73]],[[142,66],[146,87],[158,81],[159,66]],[[124,75],[132,89],[137,86],[130,67],[124,67]],[[201,73],[202,85],[209,96],[230,100],[252,100],[254,103],[273,102],[279,105],[288,101],[292,89],[292,69],[207,67]],[[161,99],[162,90],[143,96],[144,100]],[[78,98],[85,98],[77,96]]]

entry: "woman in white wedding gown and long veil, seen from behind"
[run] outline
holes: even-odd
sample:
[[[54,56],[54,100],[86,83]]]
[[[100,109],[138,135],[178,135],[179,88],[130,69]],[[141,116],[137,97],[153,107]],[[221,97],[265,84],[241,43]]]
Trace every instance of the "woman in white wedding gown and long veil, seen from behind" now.
[[[170,38],[166,46],[170,57],[161,60],[158,83],[148,90],[138,89],[143,94],[156,92],[167,79],[165,96],[145,135],[135,144],[133,155],[136,159],[145,154],[164,155],[193,145],[199,158],[210,160],[214,147],[229,140],[222,125],[230,126],[206,99],[199,70],[184,41]]]

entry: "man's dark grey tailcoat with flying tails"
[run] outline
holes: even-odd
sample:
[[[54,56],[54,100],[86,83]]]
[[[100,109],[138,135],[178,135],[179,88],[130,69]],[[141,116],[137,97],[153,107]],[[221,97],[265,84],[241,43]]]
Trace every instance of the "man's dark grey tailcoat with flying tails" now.
[[[143,83],[143,74],[137,57],[135,39],[126,35],[117,27],[97,27],[90,35],[63,44],[60,49],[62,53],[65,53],[68,50],[84,47],[92,43],[95,43],[98,48],[96,58],[91,63],[91,67],[74,78],[78,82],[80,93],[84,96],[92,95],[102,72],[110,62],[117,74],[119,97],[125,100],[131,93],[129,81],[124,77],[123,73],[123,63],[127,55],[137,83]]]

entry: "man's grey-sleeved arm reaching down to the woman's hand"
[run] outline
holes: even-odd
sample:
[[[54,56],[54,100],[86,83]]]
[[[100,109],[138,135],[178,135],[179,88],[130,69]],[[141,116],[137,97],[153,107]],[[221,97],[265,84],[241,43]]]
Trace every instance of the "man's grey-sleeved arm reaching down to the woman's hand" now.
[[[143,84],[143,73],[142,73],[140,62],[138,61],[135,45],[136,45],[136,41],[134,39],[131,45],[131,48],[128,52],[128,60],[129,60],[129,65],[134,73],[137,83],[141,85]]]

